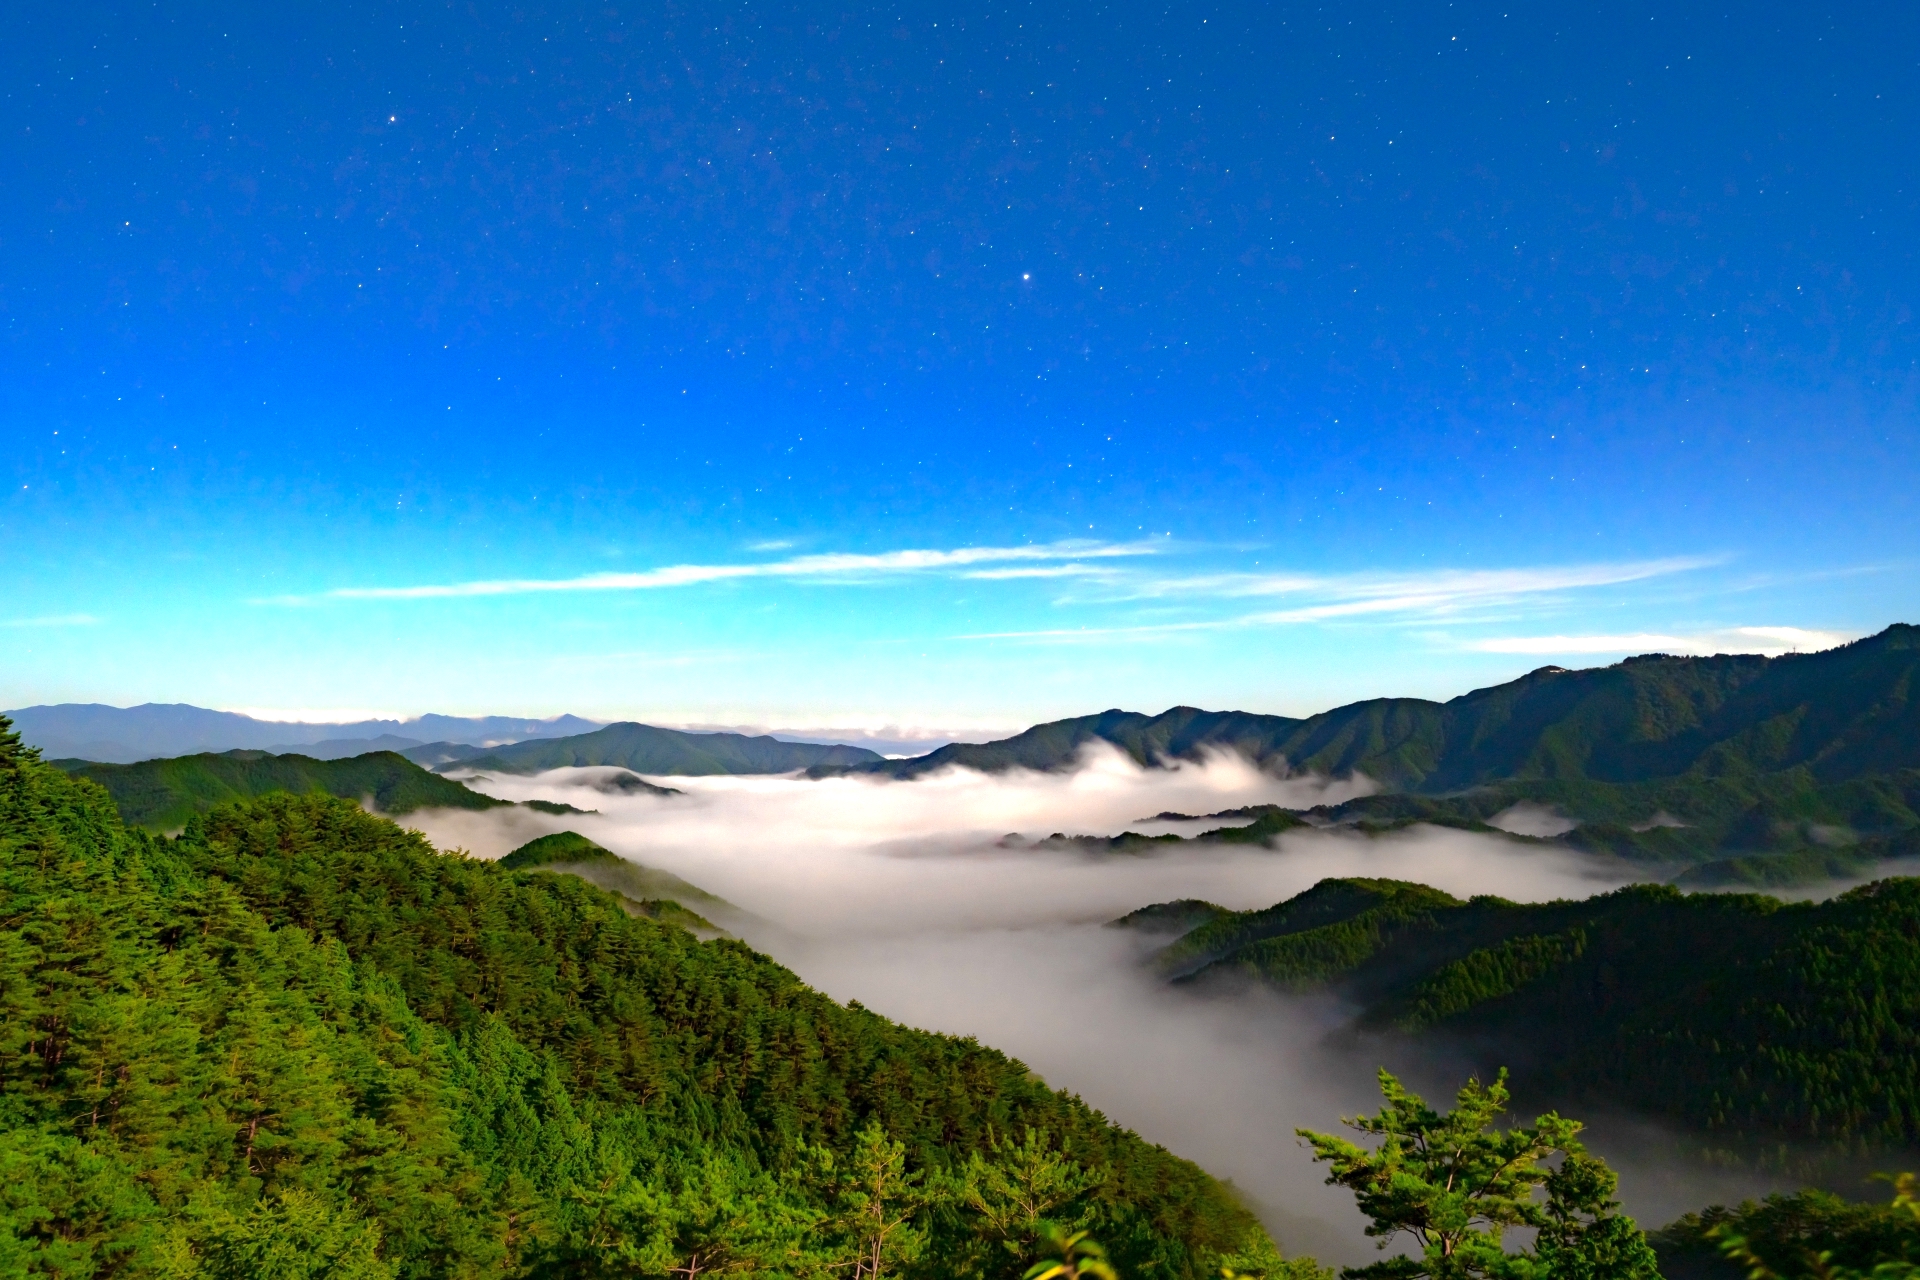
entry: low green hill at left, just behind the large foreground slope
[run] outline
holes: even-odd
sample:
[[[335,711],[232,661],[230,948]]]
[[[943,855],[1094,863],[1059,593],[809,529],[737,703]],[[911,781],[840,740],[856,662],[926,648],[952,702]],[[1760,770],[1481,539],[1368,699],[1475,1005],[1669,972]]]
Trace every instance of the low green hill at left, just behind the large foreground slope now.
[[[507,804],[428,773],[390,750],[351,760],[228,750],[140,764],[61,760],[60,766],[75,777],[106,787],[121,818],[148,831],[179,831],[194,814],[273,791],[296,794],[317,791],[348,800],[371,796],[374,808],[384,814],[411,814],[420,808],[484,810]]]

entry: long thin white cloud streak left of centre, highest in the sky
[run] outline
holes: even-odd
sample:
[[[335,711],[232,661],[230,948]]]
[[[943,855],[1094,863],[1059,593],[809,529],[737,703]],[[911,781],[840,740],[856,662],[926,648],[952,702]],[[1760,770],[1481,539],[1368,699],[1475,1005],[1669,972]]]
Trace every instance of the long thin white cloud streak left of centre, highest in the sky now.
[[[883,551],[877,555],[804,555],[758,564],[672,564],[637,574],[586,574],[582,578],[495,578],[484,581],[428,583],[411,587],[336,587],[315,595],[280,595],[263,604],[317,604],[323,601],[434,601],[484,595],[536,595],[547,591],[655,591],[743,578],[801,578],[816,581],[872,581],[902,574],[964,570],[970,564],[1091,560],[1156,555],[1156,543],[1096,543],[1085,539],[1029,547],[954,547],[947,551]]]

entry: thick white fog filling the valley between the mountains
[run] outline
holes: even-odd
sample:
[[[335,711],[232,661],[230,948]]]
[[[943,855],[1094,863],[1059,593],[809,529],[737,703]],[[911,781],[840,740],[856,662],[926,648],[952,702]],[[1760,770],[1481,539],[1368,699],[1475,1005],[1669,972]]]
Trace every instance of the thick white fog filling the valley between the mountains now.
[[[1096,750],[1073,773],[954,770],[908,783],[653,779],[685,793],[668,798],[593,789],[611,773],[618,770],[474,779],[501,798],[599,810],[589,816],[436,810],[409,821],[442,848],[484,858],[572,829],[716,892],[747,913],[724,921],[733,933],[814,986],[1020,1057],[1110,1119],[1231,1178],[1288,1253],[1329,1263],[1377,1255],[1350,1194],[1321,1182],[1294,1128],[1334,1128],[1340,1115],[1375,1111],[1379,1055],[1323,1044],[1342,1019],[1327,1000],[1169,990],[1139,963],[1150,940],[1100,925],[1171,898],[1271,906],[1327,875],[1517,900],[1584,898],[1628,879],[1619,865],[1432,827],[1375,839],[1304,831],[1271,850],[1198,844],[1148,856],[1029,844],[1056,831],[1198,833],[1225,823],[1142,819],[1365,793],[1365,779],[1281,781],[1238,756],[1140,770]],[[1004,839],[1014,833],[1021,841]],[[1465,1073],[1461,1063],[1388,1057],[1430,1098],[1450,1096]],[[1695,1169],[1649,1128],[1601,1121],[1590,1136],[1647,1226],[1770,1188]]]

